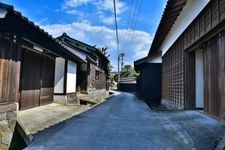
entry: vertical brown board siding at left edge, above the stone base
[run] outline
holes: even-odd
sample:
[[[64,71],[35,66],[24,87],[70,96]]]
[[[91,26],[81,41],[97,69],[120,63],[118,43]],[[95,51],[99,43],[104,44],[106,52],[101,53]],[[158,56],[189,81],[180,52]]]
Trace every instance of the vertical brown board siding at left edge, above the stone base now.
[[[0,104],[19,100],[21,48],[15,40],[0,31]]]

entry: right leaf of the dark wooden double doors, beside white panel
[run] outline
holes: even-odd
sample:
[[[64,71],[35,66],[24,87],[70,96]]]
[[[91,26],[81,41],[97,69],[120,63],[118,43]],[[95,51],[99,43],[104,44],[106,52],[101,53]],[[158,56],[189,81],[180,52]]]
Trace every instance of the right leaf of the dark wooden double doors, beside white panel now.
[[[41,97],[40,105],[53,102],[55,58],[42,56]]]

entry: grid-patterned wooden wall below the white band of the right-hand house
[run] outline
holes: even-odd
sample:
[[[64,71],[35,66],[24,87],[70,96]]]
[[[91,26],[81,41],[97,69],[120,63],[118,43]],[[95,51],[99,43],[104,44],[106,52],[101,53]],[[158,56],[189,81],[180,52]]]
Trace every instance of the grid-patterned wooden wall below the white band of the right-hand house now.
[[[212,0],[163,56],[162,98],[183,108],[194,107],[193,55],[216,28],[225,28],[225,0]],[[217,33],[214,33],[215,35]],[[215,36],[213,35],[213,36]],[[190,84],[190,82],[192,82]],[[192,91],[190,91],[192,89]]]

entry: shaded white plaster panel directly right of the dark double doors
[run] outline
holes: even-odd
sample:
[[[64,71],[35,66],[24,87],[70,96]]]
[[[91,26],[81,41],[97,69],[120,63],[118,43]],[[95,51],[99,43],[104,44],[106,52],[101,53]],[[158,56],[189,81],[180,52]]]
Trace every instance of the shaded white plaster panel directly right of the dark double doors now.
[[[63,93],[65,59],[57,57],[55,61],[55,86],[54,93]]]

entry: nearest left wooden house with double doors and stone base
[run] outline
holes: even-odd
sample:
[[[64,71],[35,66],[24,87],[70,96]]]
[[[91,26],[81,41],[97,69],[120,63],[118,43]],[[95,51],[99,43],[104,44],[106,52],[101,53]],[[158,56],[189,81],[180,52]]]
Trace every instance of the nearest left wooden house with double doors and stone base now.
[[[58,65],[58,59],[66,65]],[[51,103],[54,88],[65,95],[76,92],[76,65],[83,62],[12,6],[0,3],[0,149],[10,143],[18,109]]]

